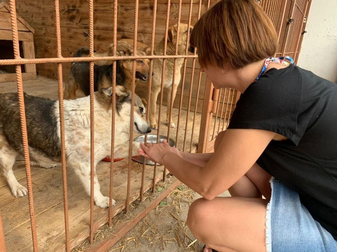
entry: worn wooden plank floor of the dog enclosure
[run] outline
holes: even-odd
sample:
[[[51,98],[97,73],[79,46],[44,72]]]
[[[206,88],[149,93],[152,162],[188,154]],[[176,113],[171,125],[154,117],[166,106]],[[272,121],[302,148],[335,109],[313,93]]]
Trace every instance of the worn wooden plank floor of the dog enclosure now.
[[[0,83],[0,93],[17,92],[16,82]],[[38,77],[36,80],[24,81],[24,92],[30,95],[44,96],[52,99],[57,98],[57,81]],[[187,111],[181,114],[181,127],[178,139],[176,139],[177,129],[171,129],[170,137],[178,140],[178,148],[183,148],[185,135]],[[166,107],[163,106],[162,123],[160,124],[161,135],[167,135]],[[173,110],[173,120],[177,124],[178,109]],[[194,138],[192,139],[192,152],[196,151],[198,133],[200,129],[201,115],[195,118]],[[186,151],[189,151],[191,143],[191,129],[193,123],[193,112],[190,112]],[[151,134],[157,134],[153,131]],[[138,136],[134,134],[134,137]],[[114,199],[117,206],[113,212],[116,215],[125,207],[126,186],[127,186],[128,161],[124,159],[115,163],[114,170]],[[18,181],[26,186],[26,176],[23,161],[17,161],[13,168],[14,175]],[[145,190],[152,187],[153,166],[146,166],[145,170]],[[63,194],[61,166],[56,168],[43,169],[31,168],[33,182],[34,207],[37,225],[37,239],[40,251],[63,251],[65,248],[64,214],[63,214]],[[97,166],[97,176],[104,195],[109,195],[110,163],[100,162]],[[131,188],[130,201],[136,200],[140,195],[140,185],[142,176],[142,165],[132,161],[131,166]],[[158,166],[156,181],[163,177],[163,167]],[[90,197],[86,195],[83,186],[78,180],[73,170],[67,170],[68,202],[69,202],[69,226],[71,247],[75,247],[89,235],[90,223]],[[7,251],[33,251],[31,240],[30,219],[28,210],[28,197],[14,198],[5,181],[0,175],[0,212],[2,215],[5,232],[5,242]],[[108,210],[95,206],[94,218],[95,228],[107,222]]]

